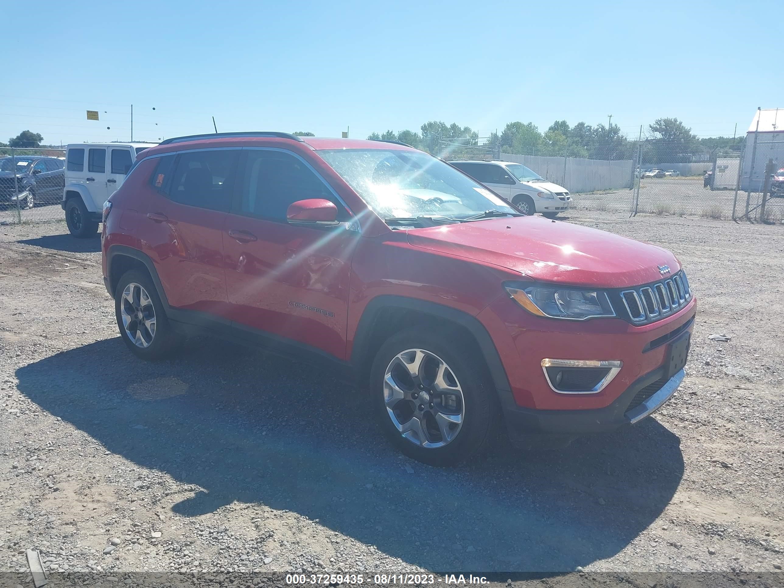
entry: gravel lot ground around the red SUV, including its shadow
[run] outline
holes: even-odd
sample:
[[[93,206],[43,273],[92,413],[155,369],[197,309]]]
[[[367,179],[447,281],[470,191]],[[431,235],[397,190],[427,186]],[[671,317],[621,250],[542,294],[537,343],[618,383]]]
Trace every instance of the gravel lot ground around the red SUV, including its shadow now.
[[[500,448],[456,470],[398,456],[364,398],[293,361],[206,339],[171,361],[134,358],[98,238],[0,227],[0,572],[26,571],[34,548],[52,570],[121,578],[780,578],[784,228],[587,214],[569,220],[664,245],[687,268],[699,314],[684,385],[618,434],[546,454]]]

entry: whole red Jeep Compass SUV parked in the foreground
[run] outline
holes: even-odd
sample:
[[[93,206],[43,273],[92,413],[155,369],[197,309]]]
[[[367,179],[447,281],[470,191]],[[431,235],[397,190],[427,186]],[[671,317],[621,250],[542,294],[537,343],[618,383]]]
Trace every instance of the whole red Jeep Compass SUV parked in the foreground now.
[[[524,216],[408,145],[283,132],[151,147],[103,209],[122,339],[211,333],[328,360],[401,451],[466,459],[637,423],[684,377],[695,298],[666,249]]]

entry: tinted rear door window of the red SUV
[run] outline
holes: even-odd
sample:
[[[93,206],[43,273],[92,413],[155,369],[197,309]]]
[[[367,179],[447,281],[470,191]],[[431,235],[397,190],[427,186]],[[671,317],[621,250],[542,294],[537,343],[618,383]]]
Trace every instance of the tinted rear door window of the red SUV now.
[[[231,208],[238,153],[234,150],[205,150],[180,154],[169,187],[169,198],[202,209],[227,212]]]

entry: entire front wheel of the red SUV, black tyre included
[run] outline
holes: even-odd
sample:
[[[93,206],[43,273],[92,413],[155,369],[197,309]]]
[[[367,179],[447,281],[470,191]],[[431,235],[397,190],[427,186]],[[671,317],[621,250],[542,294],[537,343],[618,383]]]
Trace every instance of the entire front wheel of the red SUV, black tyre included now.
[[[499,408],[475,346],[454,332],[407,328],[379,349],[370,373],[373,409],[390,440],[433,466],[485,450]]]

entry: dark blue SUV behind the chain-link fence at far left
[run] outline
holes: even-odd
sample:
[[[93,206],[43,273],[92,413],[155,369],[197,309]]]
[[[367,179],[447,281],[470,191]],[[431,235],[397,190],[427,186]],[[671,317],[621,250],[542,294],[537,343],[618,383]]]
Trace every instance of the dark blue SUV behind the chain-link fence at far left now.
[[[16,176],[16,180],[14,180]],[[56,204],[63,192],[64,171],[60,158],[38,155],[0,159],[0,206],[31,209]]]

